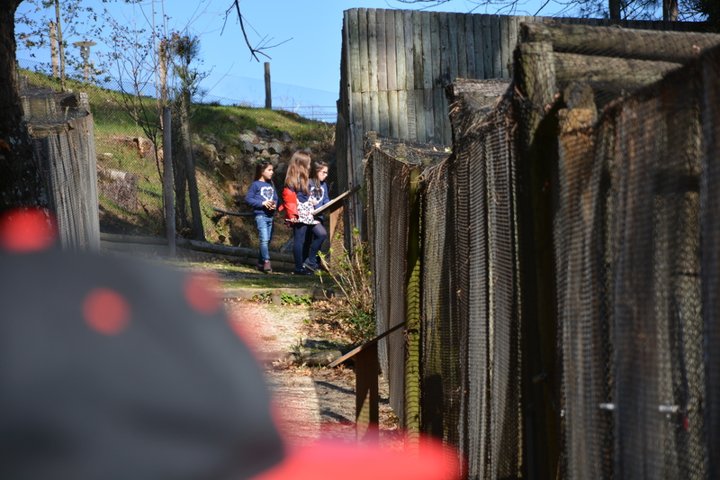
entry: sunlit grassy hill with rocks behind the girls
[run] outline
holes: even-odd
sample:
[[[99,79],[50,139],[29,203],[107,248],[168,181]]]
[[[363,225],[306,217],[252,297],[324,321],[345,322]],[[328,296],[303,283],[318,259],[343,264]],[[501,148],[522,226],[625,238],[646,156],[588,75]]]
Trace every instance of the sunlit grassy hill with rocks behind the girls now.
[[[21,70],[32,85],[59,91],[58,78],[31,70]],[[137,178],[135,208],[101,193],[101,231],[132,235],[164,236],[162,221],[162,160],[153,153],[148,129],[157,125],[157,100],[150,96],[121,94],[119,85],[94,86],[67,79],[66,87],[88,96],[94,116],[95,149],[99,182],[112,172],[129,172]],[[193,157],[201,198],[202,224],[208,241],[232,246],[257,248],[257,233],[251,217],[222,214],[215,209],[247,212],[236,201],[245,195],[260,152],[248,151],[247,135],[257,133],[280,141],[282,151],[274,158],[276,186],[282,186],[284,164],[294,149],[311,149],[314,158],[334,156],[334,125],[302,118],[296,113],[250,108],[242,105],[193,104],[191,120]],[[150,130],[153,130],[152,128]],[[161,132],[156,140],[160,148]],[[245,134],[245,137],[241,137]],[[263,140],[263,139],[260,139]],[[139,148],[143,143],[149,149]],[[280,167],[280,168],[278,168]],[[109,173],[110,172],[110,173]],[[287,240],[277,225],[271,249]],[[180,236],[188,234],[179,231]]]

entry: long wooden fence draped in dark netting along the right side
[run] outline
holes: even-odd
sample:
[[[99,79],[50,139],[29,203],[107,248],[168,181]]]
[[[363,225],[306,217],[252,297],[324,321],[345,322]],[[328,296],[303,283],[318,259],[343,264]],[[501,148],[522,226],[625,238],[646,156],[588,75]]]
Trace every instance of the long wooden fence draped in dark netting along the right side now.
[[[470,478],[718,478],[720,37],[521,37],[505,95],[452,99],[450,158],[369,149],[378,331],[407,328],[385,353],[391,402],[419,401]]]

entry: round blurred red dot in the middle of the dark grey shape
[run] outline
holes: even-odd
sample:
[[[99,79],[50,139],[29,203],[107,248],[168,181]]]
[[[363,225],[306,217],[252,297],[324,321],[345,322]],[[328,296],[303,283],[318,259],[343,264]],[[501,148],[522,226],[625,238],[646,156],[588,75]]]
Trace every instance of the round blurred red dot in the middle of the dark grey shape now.
[[[109,288],[95,288],[83,302],[85,322],[104,335],[117,335],[130,322],[130,306],[125,298]]]

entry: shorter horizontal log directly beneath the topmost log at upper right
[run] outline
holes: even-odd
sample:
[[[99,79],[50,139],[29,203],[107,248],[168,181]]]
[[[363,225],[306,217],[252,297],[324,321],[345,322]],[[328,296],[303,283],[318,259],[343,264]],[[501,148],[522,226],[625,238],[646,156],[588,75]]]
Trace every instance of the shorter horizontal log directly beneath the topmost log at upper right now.
[[[581,80],[626,89],[650,85],[671,70],[682,67],[679,63],[664,61],[616,59],[576,53],[554,52],[553,56],[558,83]]]

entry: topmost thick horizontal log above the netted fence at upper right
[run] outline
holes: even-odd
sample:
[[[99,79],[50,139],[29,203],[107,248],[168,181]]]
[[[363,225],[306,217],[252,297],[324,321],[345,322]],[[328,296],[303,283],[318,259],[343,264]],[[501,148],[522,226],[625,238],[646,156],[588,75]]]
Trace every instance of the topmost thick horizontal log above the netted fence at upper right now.
[[[720,35],[523,23],[521,41],[548,41],[555,51],[597,52],[607,57],[685,63],[696,58],[700,50],[720,44]]]

